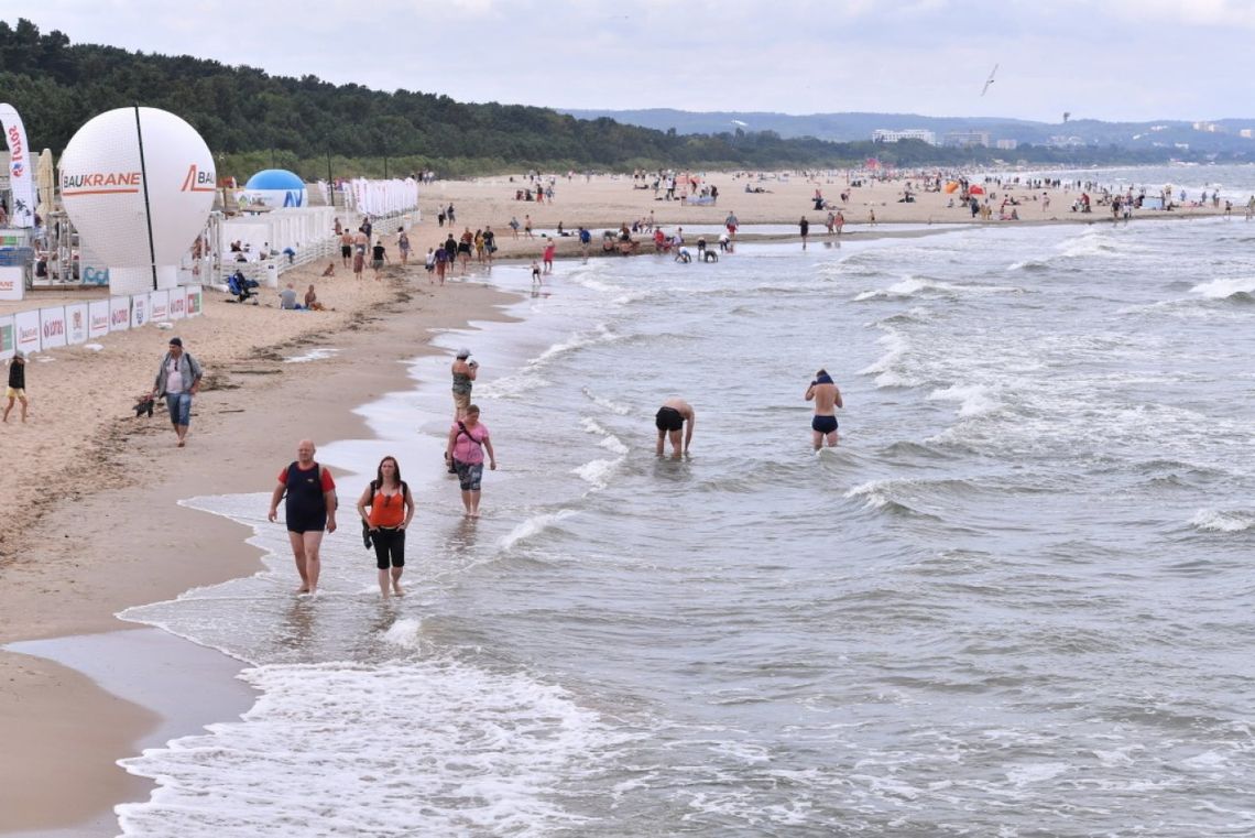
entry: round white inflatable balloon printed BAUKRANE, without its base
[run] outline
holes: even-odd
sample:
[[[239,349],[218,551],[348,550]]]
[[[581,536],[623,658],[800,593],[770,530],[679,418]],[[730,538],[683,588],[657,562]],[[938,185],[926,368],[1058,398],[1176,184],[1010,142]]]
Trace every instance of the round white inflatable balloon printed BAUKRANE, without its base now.
[[[60,162],[65,212],[84,246],[109,267],[178,265],[213,208],[216,177],[196,129],[157,108],[119,108],[90,119]]]

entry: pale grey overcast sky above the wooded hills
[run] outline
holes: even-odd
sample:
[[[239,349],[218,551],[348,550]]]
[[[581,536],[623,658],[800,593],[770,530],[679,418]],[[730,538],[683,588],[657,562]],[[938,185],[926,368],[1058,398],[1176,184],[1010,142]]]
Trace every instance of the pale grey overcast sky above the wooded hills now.
[[[1255,117],[1255,0],[40,0],[19,16],[73,43],[461,102]]]

